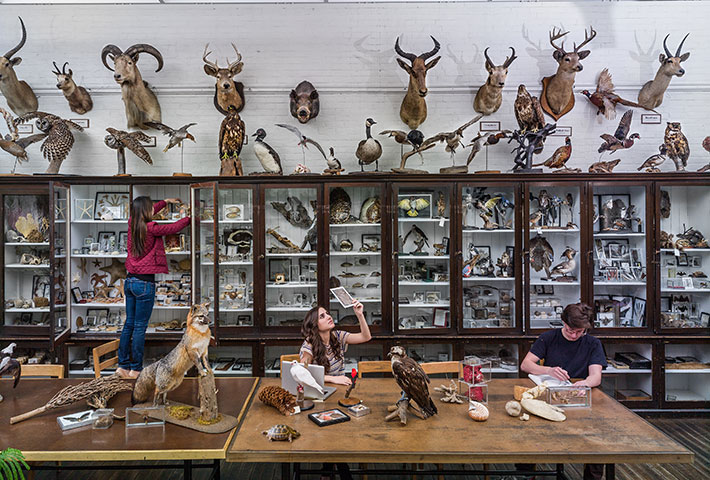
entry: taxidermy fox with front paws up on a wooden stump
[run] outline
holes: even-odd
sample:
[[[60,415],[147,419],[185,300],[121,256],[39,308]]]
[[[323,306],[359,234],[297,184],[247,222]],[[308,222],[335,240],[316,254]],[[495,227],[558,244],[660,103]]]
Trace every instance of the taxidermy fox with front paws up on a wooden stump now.
[[[165,404],[168,392],[182,383],[193,365],[200,376],[209,371],[207,347],[210,344],[209,303],[193,305],[187,314],[187,329],[180,343],[155,363],[144,368],[133,387],[131,402],[146,402],[153,396],[153,405]],[[160,402],[159,397],[162,396]]]

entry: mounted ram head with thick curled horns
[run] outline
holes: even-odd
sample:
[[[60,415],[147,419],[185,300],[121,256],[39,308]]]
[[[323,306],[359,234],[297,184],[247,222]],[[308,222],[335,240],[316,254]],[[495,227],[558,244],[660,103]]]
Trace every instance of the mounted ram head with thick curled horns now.
[[[121,85],[121,97],[126,106],[126,119],[128,128],[148,128],[145,122],[160,122],[160,104],[155,94],[143,81],[138,70],[138,57],[141,53],[152,55],[158,61],[159,72],[163,68],[163,56],[160,52],[147,43],[138,43],[128,47],[123,52],[116,45],[106,45],[101,51],[101,61],[104,66],[114,72],[113,78]],[[113,61],[114,68],[108,66],[106,57]]]

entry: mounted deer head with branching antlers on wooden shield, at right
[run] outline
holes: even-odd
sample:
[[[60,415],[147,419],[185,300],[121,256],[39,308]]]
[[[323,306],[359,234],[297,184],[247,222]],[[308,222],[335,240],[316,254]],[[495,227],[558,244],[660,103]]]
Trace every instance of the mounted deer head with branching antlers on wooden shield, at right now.
[[[542,109],[555,120],[558,120],[562,115],[566,114],[574,107],[574,79],[577,72],[582,71],[580,60],[584,60],[592,53],[591,50],[580,50],[583,46],[591,42],[597,36],[597,32],[593,27],[589,27],[589,33],[584,31],[584,41],[577,46],[574,44],[574,50],[566,52],[564,49],[564,41],[561,45],[556,45],[555,40],[567,35],[569,32],[563,32],[555,28],[550,32],[550,45],[555,49],[552,57],[557,61],[557,73],[551,77],[542,79],[542,95],[540,95],[540,103]]]

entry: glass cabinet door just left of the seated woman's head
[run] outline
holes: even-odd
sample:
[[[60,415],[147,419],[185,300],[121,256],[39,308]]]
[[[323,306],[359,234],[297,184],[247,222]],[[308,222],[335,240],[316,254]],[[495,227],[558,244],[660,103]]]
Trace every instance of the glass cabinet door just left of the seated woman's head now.
[[[318,189],[264,189],[266,326],[300,327],[318,304]]]

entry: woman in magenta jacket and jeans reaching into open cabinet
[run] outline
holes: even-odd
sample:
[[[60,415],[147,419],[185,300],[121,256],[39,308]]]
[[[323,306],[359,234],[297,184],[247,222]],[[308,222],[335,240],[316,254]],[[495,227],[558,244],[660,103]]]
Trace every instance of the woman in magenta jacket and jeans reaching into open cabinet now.
[[[190,217],[169,224],[157,224],[153,215],[168,203],[181,203],[167,198],[153,203],[149,197],[137,197],[131,204],[128,221],[128,278],[123,285],[126,297],[126,324],[118,347],[118,369],[124,378],[136,378],[143,369],[145,330],[155,303],[155,274],[168,273],[163,237],[179,232],[190,224]]]

